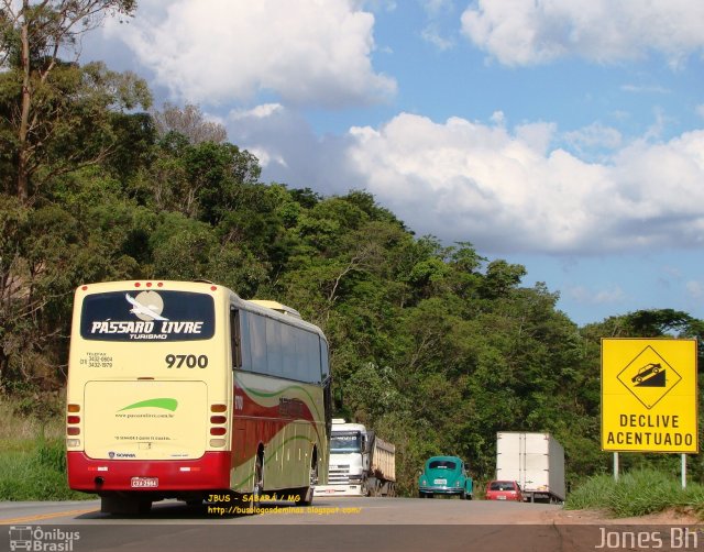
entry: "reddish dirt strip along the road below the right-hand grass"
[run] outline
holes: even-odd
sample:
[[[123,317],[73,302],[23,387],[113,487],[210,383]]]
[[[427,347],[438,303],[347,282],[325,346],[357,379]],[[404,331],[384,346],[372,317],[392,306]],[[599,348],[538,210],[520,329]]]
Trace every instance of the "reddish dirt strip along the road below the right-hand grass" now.
[[[694,511],[669,509],[636,518],[614,518],[607,510],[557,510],[542,512],[543,522],[554,525],[598,526],[694,526],[704,520]]]

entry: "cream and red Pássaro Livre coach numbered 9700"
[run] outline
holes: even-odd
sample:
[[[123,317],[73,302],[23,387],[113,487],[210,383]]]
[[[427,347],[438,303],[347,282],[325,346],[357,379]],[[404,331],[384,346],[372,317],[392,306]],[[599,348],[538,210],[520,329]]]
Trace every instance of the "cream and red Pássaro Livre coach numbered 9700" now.
[[[69,487],[112,514],[166,498],[309,505],[327,483],[330,385],[322,331],[278,302],[207,281],[80,286]]]

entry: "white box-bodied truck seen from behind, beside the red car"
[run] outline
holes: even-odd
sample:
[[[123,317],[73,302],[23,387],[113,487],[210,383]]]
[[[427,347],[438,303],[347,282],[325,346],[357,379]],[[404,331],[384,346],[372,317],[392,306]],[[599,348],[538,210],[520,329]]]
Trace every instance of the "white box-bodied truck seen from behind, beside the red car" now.
[[[496,478],[515,481],[524,499],[564,501],[564,449],[550,433],[496,433]]]

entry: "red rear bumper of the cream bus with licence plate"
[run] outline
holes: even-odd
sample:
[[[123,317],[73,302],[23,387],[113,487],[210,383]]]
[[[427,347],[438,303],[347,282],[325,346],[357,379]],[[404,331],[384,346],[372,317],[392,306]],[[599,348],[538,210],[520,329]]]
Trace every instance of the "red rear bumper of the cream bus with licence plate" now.
[[[66,453],[68,486],[102,495],[145,492],[174,496],[230,487],[230,452],[206,452],[197,460],[95,460],[81,451]]]

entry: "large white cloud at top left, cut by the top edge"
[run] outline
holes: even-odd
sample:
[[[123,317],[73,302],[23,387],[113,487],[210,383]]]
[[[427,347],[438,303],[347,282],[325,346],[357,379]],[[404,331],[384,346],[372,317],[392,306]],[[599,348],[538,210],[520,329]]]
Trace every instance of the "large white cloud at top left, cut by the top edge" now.
[[[217,104],[273,92],[293,104],[384,101],[396,82],[376,74],[374,15],[348,0],[140,2],[130,25],[108,24],[176,99]]]

